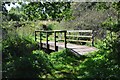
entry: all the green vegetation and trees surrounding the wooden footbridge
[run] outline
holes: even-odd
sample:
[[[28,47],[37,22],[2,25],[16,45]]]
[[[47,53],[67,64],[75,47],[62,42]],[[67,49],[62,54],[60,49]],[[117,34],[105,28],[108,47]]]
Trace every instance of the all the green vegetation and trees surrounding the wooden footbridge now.
[[[42,9],[45,7],[46,9],[50,10],[46,12],[49,15],[48,17],[45,16],[46,14],[42,15],[41,12],[40,14],[36,12],[35,14],[38,14],[37,16],[33,15],[33,13],[26,15],[27,12],[30,12],[31,8],[33,12],[34,10],[37,10],[36,7],[38,7],[39,4],[42,3],[30,3],[29,5],[24,5],[20,9],[20,13],[17,11],[17,8],[12,9],[10,12],[4,10],[2,12],[3,20],[5,20],[0,25],[3,36],[3,78],[119,80],[119,3],[44,3],[42,5]],[[56,4],[57,6],[55,6]],[[4,5],[5,4],[3,3],[2,6]],[[79,10],[78,13],[77,10],[74,9],[76,5],[78,5],[78,7],[82,6],[81,9],[78,7],[76,8]],[[61,11],[59,6],[64,6],[64,9]],[[55,9],[56,7],[57,9]],[[51,13],[51,8],[53,13]],[[71,8],[73,8],[73,12]],[[23,9],[26,9],[25,12]],[[114,11],[115,16],[112,15],[111,17],[105,17],[103,20],[105,15],[102,14],[102,11],[109,11],[111,9]],[[86,11],[90,11],[89,13],[91,14],[88,15]],[[70,14],[68,14],[69,12]],[[84,12],[86,16],[84,16]],[[71,13],[73,14],[71,15]],[[100,23],[96,23],[98,22],[99,18],[95,19],[95,17],[93,17],[93,13],[96,14],[95,16],[97,18],[102,17],[100,18]],[[118,17],[116,17],[116,15]],[[73,23],[71,23],[71,20],[68,20],[66,23],[64,23],[64,20],[70,16],[72,17],[70,19],[74,19]],[[25,20],[33,20],[34,22]],[[76,56],[69,49],[47,54],[44,51],[39,50],[38,43],[34,40],[34,31],[36,29],[42,29],[41,26],[45,23],[44,21],[42,22],[40,20],[55,20],[55,22],[48,21],[48,30],[58,29],[58,27],[59,29],[62,28],[61,30],[95,29],[98,30],[98,32],[101,30],[99,32],[101,34],[102,32],[106,31],[107,35],[104,34],[104,38],[102,36],[102,38],[95,39],[95,47],[99,49],[98,51],[88,53],[83,56]],[[61,21],[61,23],[56,21]],[[64,27],[66,26],[65,24],[67,27]],[[81,24],[82,26],[80,27]],[[91,24],[97,25],[97,27],[88,27]],[[96,35],[98,35],[98,33],[96,33]],[[52,38],[50,39],[52,40]]]

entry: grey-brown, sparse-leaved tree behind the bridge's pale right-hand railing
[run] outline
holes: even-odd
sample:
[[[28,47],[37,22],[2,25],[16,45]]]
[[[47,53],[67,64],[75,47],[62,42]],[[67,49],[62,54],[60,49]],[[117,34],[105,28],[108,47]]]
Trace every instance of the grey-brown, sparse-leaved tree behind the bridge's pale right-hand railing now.
[[[73,29],[98,29],[101,23],[112,16],[117,17],[116,12],[111,7],[112,4],[104,2],[109,9],[99,10],[101,2],[76,2],[71,5],[74,19],[61,21],[62,26],[68,26]],[[103,4],[103,3],[102,3]],[[69,28],[69,29],[70,29]]]

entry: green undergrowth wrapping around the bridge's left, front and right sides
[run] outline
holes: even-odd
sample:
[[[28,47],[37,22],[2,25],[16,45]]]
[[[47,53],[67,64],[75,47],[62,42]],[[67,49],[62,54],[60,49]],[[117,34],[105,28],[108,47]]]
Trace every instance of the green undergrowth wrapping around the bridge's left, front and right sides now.
[[[47,54],[33,36],[5,30],[2,41],[3,78],[119,80],[120,39],[98,42],[98,51],[75,56],[69,49]],[[13,32],[13,33],[12,33]]]

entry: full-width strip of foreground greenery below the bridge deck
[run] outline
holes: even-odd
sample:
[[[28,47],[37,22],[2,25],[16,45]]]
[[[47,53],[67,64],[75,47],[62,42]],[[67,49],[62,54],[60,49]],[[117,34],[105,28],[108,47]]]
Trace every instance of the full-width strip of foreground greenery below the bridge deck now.
[[[75,56],[69,49],[49,55],[33,50],[29,55],[3,59],[3,78],[119,80],[119,64],[110,59],[109,54],[110,51],[104,49],[80,57]]]

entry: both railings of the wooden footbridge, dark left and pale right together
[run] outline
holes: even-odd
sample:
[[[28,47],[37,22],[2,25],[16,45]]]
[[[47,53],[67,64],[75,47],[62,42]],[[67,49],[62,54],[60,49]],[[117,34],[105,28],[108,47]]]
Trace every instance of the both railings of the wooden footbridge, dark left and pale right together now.
[[[38,35],[39,35],[39,39],[37,37]],[[54,39],[54,45],[49,44],[49,38],[51,38],[50,35],[53,35],[52,39]],[[59,39],[61,35],[63,37]],[[46,41],[43,40],[43,37],[46,39]],[[87,40],[85,38],[87,38]],[[93,30],[54,30],[54,31],[36,30],[35,41],[37,40],[39,40],[40,49],[43,48],[43,41],[45,41],[44,44],[46,45],[46,48],[50,49],[50,46],[54,46],[55,51],[58,51],[58,46],[57,46],[58,41],[64,41],[64,48],[67,48],[67,42],[71,42],[71,41],[90,42],[92,43],[92,46],[94,46],[94,31]]]

